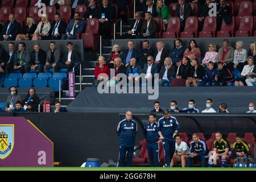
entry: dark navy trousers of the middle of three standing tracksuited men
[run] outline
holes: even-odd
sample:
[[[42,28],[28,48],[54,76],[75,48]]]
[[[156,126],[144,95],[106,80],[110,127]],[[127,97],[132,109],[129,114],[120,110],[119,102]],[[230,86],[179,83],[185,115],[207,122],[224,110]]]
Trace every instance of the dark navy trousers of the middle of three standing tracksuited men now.
[[[159,143],[147,143],[147,154],[151,167],[159,167]]]

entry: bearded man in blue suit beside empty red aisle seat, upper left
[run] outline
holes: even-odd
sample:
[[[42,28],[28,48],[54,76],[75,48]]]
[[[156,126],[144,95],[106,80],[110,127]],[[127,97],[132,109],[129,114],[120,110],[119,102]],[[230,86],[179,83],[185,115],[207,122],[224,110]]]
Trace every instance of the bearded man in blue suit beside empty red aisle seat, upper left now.
[[[68,23],[66,34],[61,38],[62,40],[76,39],[76,34],[82,34],[85,30],[85,22],[80,19],[80,13],[76,12],[74,18]]]

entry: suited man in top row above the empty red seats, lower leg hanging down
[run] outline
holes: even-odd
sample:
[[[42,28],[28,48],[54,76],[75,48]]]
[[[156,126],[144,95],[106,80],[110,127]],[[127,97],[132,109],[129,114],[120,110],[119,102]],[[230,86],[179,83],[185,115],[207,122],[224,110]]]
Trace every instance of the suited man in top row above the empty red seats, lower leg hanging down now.
[[[185,0],[179,0],[178,3],[175,16],[180,17],[180,31],[183,31],[186,19],[192,15],[192,7],[189,3],[185,3]]]

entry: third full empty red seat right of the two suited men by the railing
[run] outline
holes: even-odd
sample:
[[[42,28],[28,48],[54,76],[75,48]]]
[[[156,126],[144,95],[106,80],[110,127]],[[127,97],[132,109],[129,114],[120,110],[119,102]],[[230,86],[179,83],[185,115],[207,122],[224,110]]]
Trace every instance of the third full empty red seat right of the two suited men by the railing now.
[[[215,36],[217,28],[216,18],[214,16],[207,16],[204,19],[204,27],[201,32],[199,32],[199,38],[213,38]]]

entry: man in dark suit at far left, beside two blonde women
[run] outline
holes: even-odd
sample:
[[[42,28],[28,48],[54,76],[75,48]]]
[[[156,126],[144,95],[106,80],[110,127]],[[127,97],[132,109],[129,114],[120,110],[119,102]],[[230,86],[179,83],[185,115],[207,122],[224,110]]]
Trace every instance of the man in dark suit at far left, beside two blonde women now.
[[[14,15],[9,15],[9,20],[5,23],[0,40],[15,40],[20,33],[20,24],[14,19]]]

